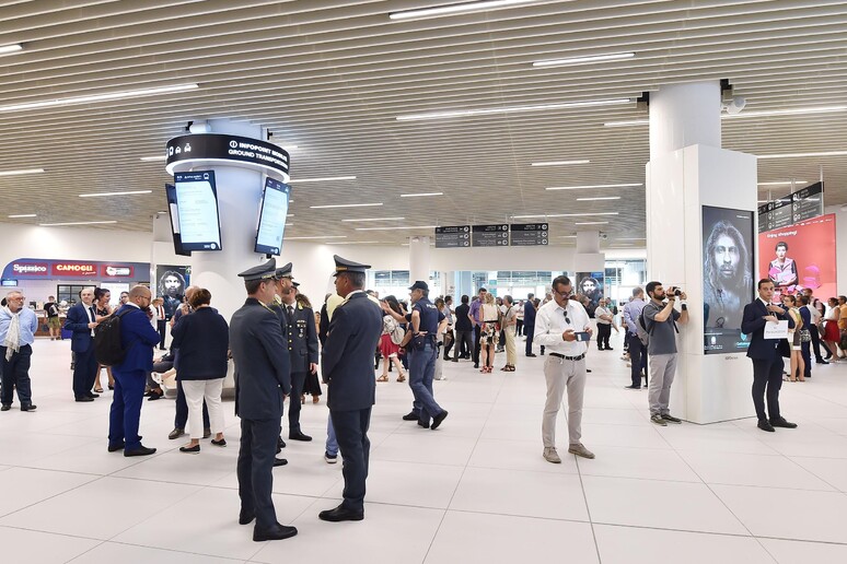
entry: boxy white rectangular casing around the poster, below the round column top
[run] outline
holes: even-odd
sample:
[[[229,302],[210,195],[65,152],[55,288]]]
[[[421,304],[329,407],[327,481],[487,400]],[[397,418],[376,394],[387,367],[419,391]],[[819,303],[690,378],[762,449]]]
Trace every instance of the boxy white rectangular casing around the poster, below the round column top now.
[[[677,338],[671,409],[694,423],[754,414],[753,366],[745,353],[704,353],[703,207],[752,211],[755,218],[756,179],[754,155],[709,145],[686,146],[647,165],[648,279],[665,289],[681,286],[688,295],[691,316]],[[755,221],[752,239],[751,251]]]

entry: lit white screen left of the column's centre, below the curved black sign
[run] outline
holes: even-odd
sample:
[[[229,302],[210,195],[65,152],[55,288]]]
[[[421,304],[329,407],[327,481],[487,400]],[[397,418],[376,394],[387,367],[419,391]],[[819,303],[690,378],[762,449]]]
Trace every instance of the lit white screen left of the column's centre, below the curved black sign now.
[[[212,171],[175,173],[174,186],[183,249],[221,250],[214,173]]]

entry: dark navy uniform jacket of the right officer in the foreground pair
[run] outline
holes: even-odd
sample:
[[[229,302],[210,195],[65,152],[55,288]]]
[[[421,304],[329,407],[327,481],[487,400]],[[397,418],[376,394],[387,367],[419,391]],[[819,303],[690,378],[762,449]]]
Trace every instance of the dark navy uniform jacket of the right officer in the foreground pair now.
[[[361,410],[375,403],[373,351],[381,334],[382,309],[364,292],[335,308],[321,360],[330,410]]]

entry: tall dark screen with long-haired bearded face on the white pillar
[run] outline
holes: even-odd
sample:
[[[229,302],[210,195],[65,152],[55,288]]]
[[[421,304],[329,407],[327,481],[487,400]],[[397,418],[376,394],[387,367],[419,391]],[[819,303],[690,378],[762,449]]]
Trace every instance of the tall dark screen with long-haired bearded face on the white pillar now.
[[[753,212],[703,207],[704,353],[746,351],[744,306],[755,294]]]

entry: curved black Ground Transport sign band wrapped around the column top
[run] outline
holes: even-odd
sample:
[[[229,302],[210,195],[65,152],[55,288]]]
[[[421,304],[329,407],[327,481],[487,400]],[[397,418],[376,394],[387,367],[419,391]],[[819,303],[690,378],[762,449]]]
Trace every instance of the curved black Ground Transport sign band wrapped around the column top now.
[[[165,171],[173,175],[177,165],[208,167],[216,164],[252,168],[288,181],[288,152],[274,143],[239,136],[197,133],[171,139],[165,148]]]

